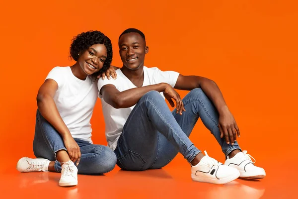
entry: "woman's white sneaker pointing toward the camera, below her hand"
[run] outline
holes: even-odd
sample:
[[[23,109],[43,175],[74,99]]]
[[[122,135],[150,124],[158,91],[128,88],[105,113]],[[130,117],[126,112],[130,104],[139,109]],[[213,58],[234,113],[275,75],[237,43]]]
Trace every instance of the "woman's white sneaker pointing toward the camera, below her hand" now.
[[[74,166],[74,163],[69,160],[61,164],[63,165],[59,186],[66,187],[77,185],[77,168]]]

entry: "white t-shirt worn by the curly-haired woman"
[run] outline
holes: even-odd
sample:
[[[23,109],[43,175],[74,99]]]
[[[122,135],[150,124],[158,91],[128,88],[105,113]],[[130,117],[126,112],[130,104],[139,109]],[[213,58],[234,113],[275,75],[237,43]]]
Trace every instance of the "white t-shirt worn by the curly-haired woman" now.
[[[74,138],[92,143],[90,119],[97,100],[97,81],[76,78],[71,67],[55,67],[46,79],[58,84],[54,101],[58,111]]]

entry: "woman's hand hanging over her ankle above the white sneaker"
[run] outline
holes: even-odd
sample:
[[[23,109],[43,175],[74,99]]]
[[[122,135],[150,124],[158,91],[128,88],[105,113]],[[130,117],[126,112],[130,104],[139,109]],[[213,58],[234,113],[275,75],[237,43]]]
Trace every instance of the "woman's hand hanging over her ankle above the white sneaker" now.
[[[79,146],[74,141],[74,138],[71,135],[67,135],[66,137],[64,137],[63,142],[67,149],[67,152],[69,154],[71,161],[73,162],[76,161],[76,166],[77,166],[79,164],[80,157],[81,157]]]

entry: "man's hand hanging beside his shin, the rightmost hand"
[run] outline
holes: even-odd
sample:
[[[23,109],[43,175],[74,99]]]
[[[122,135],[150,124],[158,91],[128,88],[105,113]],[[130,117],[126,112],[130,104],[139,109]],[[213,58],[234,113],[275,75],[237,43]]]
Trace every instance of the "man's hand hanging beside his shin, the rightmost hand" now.
[[[221,131],[221,138],[224,137],[227,144],[231,143],[231,145],[233,145],[237,139],[237,135],[240,137],[237,123],[232,113],[227,108],[220,113],[219,128]]]

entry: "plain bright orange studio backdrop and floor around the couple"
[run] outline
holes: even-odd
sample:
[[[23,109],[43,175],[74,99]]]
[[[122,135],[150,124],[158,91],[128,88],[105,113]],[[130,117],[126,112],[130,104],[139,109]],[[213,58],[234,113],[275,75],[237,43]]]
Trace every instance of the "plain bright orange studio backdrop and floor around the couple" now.
[[[297,10],[297,0],[1,1],[0,199],[298,198]],[[58,173],[16,171],[19,158],[34,157],[40,85],[53,67],[74,64],[73,36],[104,32],[113,43],[112,64],[122,66],[118,37],[130,27],[146,35],[146,66],[219,85],[240,128],[240,146],[266,170],[265,179],[195,183],[181,155],[160,170],[79,175],[73,188],[59,187]],[[99,100],[91,124],[93,142],[106,145]],[[224,162],[201,122],[190,139]]]

